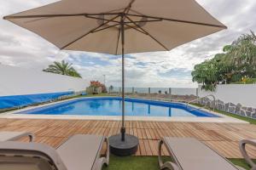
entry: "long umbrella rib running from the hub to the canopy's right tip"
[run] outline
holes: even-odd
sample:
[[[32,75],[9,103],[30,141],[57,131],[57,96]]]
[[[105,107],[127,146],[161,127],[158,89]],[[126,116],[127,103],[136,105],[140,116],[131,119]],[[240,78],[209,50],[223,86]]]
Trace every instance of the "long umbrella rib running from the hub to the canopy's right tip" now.
[[[203,22],[195,22],[195,21],[189,21],[189,20],[176,20],[176,19],[167,19],[167,18],[161,18],[161,17],[154,17],[154,16],[148,16],[144,14],[127,14],[129,16],[137,16],[137,17],[146,17],[148,19],[161,19],[161,20],[169,20],[173,22],[181,22],[181,23],[187,23],[187,24],[194,24],[194,25],[200,25],[200,26],[213,26],[218,28],[225,28],[227,29],[227,26],[220,26],[220,25],[214,25],[214,24],[207,24]]]

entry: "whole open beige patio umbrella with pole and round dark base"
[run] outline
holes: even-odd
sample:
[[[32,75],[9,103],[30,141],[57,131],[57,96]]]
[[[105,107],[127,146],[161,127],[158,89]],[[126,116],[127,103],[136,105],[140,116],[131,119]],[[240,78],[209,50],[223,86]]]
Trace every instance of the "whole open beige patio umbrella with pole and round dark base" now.
[[[137,150],[137,139],[125,135],[124,55],[169,51],[226,28],[194,0],[62,0],[4,19],[60,49],[122,54],[122,135],[110,138],[118,155]]]

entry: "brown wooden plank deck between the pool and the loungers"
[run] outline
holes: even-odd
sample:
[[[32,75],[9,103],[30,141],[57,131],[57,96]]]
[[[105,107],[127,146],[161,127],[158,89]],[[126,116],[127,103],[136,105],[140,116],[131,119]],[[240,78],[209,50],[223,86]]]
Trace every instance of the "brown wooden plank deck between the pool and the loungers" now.
[[[36,142],[57,147],[73,134],[119,133],[117,121],[28,120],[0,119],[0,131],[35,133]],[[195,123],[195,122],[126,122],[126,131],[139,138],[137,156],[157,156],[158,140],[162,136],[193,137],[209,145],[228,158],[240,158],[238,141],[256,139],[256,126],[251,124]],[[164,150],[164,154],[166,150]],[[249,154],[256,158],[256,148]]]

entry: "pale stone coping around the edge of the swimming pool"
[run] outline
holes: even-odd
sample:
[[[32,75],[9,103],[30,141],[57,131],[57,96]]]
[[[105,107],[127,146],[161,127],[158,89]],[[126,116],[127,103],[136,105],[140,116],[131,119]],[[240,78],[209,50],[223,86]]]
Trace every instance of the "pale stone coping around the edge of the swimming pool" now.
[[[96,97],[82,97],[82,98],[75,98],[75,99],[94,99],[94,98],[119,98],[118,96],[96,96]],[[72,101],[75,99],[66,99],[62,101],[57,101],[49,104],[44,105],[37,105],[37,106],[30,106],[24,109],[20,109],[17,111],[9,111],[0,114],[0,118],[7,118],[7,119],[61,119],[61,120],[102,120],[102,121],[121,121],[121,116],[79,116],[79,115],[29,115],[29,114],[17,114],[21,111],[27,111],[32,109],[37,109],[40,107],[45,107],[49,105],[56,105],[67,101]],[[129,98],[129,99],[140,99],[140,98]],[[155,100],[155,99],[143,99],[143,100],[152,100],[152,101],[160,101],[170,103],[171,101],[164,101],[164,100]],[[172,103],[183,104],[183,102],[175,102]],[[161,117],[161,116],[125,116],[126,121],[156,121],[156,122],[218,122],[218,123],[249,123],[246,121],[242,121],[240,119],[236,119],[231,116],[225,116],[223,114],[217,113],[215,111],[209,111],[207,109],[189,105],[196,109],[201,109],[201,111],[206,111],[213,115],[217,115],[219,117]]]

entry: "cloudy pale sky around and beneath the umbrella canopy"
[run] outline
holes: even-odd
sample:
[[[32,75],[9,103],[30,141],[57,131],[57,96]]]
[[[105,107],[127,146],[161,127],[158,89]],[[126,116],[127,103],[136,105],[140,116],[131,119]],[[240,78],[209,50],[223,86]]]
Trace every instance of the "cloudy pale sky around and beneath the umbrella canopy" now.
[[[0,0],[0,63],[42,71],[54,61],[73,63],[87,80],[120,86],[121,59],[108,54],[60,51],[42,37],[15,26],[4,15],[36,8],[55,0]],[[126,87],[195,88],[191,71],[196,64],[211,59],[237,37],[256,31],[255,0],[197,0],[207,11],[228,26],[208,37],[189,42],[169,52],[129,54],[125,58]]]

